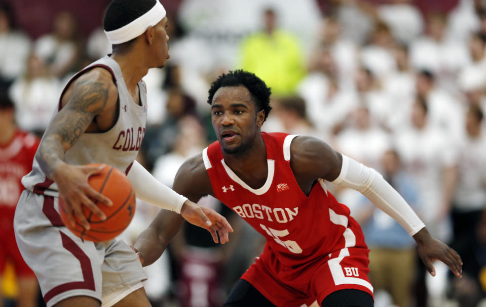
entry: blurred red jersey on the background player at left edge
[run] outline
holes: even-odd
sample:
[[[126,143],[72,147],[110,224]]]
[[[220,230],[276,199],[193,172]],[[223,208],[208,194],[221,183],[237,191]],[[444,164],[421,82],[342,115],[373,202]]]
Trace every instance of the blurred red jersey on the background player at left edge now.
[[[17,130],[12,140],[0,145],[0,224],[13,231],[15,207],[24,190],[22,177],[32,169],[32,160],[39,146],[39,139],[25,131]]]

